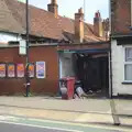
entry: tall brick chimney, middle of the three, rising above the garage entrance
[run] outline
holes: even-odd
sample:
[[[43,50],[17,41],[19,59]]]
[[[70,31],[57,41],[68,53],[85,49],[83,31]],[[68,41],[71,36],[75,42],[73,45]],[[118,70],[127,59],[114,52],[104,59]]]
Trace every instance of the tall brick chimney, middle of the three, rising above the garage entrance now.
[[[80,8],[77,13],[75,13],[75,43],[84,42],[84,12]]]

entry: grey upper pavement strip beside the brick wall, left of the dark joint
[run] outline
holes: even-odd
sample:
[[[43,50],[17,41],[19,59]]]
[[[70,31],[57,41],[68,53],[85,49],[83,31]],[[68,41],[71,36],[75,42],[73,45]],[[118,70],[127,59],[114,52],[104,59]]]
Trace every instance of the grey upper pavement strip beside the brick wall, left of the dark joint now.
[[[107,99],[62,100],[45,99],[43,97],[0,97],[0,105],[47,110],[111,113],[110,102]]]

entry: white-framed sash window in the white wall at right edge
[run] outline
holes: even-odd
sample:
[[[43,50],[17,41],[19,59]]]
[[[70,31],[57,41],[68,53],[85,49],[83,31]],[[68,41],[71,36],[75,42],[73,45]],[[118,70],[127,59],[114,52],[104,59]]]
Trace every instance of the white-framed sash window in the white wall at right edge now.
[[[132,47],[125,47],[124,80],[132,81]]]

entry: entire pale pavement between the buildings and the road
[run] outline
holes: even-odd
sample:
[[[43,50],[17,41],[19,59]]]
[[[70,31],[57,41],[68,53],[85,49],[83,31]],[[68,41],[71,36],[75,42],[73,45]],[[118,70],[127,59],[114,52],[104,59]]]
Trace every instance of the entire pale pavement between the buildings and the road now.
[[[0,114],[132,127],[132,100],[0,97]]]

